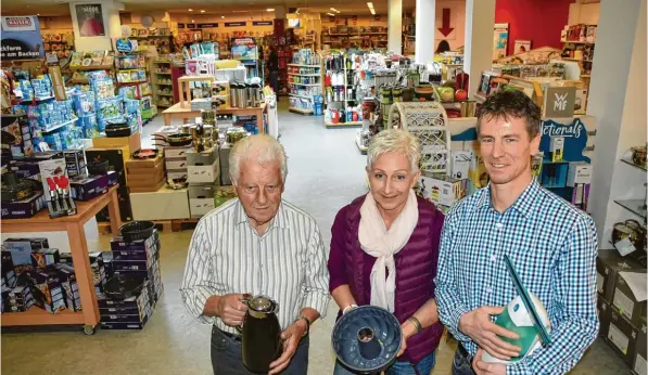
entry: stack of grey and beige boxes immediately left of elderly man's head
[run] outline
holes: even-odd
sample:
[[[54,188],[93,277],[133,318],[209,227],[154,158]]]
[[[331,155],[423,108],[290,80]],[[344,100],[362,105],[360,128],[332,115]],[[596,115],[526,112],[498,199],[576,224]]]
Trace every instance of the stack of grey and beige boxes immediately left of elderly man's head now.
[[[189,182],[189,211],[192,218],[200,218],[215,208],[214,197],[220,185],[220,163],[218,146],[201,153],[187,153]]]

